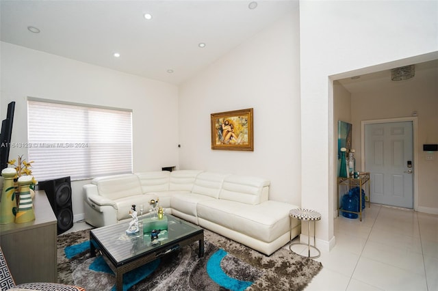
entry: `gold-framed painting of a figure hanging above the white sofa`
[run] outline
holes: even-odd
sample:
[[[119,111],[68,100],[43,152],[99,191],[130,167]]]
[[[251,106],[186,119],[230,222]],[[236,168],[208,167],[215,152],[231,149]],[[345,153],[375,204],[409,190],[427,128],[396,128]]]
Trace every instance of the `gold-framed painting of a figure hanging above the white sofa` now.
[[[253,151],[253,109],[211,113],[211,150]]]

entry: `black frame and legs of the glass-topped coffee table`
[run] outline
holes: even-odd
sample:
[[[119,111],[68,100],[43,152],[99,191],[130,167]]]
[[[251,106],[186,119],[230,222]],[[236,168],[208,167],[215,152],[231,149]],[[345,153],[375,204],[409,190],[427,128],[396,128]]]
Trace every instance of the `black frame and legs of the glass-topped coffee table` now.
[[[204,255],[204,230],[197,225],[194,225],[187,221],[183,221],[181,219],[178,219],[177,217],[172,217],[171,215],[168,215],[168,218],[170,218],[170,220],[172,221],[177,221],[178,223],[184,223],[185,225],[189,225],[192,231],[189,232],[187,235],[183,235],[173,240],[164,240],[160,245],[157,245],[156,247],[152,247],[150,249],[146,248],[144,251],[139,251],[138,253],[134,252],[130,258],[120,261],[116,260],[111,251],[109,251],[107,247],[105,247],[106,244],[102,243],[101,240],[99,240],[99,230],[105,229],[107,231],[114,229],[114,232],[116,234],[120,234],[120,236],[122,236],[123,234],[125,234],[125,230],[127,230],[128,223],[118,223],[116,225],[108,225],[96,228],[94,230],[90,230],[91,256],[94,257],[96,256],[96,253],[99,252],[103,257],[103,260],[105,260],[105,262],[108,264],[108,266],[110,266],[114,274],[116,274],[116,290],[123,290],[123,274],[135,268],[143,266],[144,264],[152,262],[153,260],[156,260],[157,258],[160,258],[167,253],[175,251],[180,247],[190,245],[191,243],[196,242],[196,240],[198,240],[199,242],[198,258],[201,258]],[[150,234],[144,235],[147,236]],[[140,234],[127,234],[127,236],[143,236],[143,233],[140,230]]]

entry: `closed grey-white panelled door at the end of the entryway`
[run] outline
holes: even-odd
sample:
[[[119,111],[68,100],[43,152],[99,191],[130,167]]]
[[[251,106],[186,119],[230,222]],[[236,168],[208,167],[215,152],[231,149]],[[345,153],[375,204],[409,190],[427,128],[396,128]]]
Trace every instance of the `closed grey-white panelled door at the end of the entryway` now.
[[[413,123],[365,124],[370,201],[413,209]]]

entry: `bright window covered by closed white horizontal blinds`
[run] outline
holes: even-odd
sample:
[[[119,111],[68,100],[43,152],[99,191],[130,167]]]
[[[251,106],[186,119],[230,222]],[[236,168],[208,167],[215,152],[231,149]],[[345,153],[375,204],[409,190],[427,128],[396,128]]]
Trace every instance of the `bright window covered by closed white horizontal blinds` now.
[[[132,111],[27,101],[29,161],[36,180],[132,172]]]

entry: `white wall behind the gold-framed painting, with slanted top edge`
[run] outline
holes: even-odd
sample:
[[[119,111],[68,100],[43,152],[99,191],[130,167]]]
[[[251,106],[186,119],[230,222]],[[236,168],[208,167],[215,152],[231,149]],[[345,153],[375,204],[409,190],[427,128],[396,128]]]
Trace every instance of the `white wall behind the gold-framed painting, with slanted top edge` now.
[[[300,205],[298,11],[263,29],[179,89],[182,169],[271,180],[270,199]],[[211,150],[210,114],[254,109],[254,152]]]

